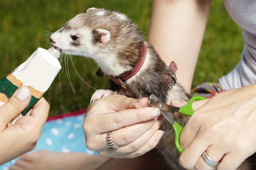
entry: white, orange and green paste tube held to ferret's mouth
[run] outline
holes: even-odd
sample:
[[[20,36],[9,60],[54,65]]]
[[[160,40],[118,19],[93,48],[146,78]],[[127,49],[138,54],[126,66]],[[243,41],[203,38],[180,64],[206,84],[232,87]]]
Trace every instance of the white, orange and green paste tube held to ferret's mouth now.
[[[32,97],[28,107],[21,113],[25,115],[48,90],[62,68],[58,58],[60,52],[53,47],[38,48],[24,63],[0,80],[0,106],[7,102],[21,86],[30,89]],[[12,120],[14,123],[17,118]]]

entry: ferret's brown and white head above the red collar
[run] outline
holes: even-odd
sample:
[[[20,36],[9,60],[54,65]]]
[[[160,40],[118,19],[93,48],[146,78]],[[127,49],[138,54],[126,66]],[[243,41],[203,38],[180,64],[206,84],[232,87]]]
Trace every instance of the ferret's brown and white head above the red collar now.
[[[89,8],[50,36],[64,53],[91,57],[110,75],[134,67],[143,41],[141,31],[125,15],[102,8]]]

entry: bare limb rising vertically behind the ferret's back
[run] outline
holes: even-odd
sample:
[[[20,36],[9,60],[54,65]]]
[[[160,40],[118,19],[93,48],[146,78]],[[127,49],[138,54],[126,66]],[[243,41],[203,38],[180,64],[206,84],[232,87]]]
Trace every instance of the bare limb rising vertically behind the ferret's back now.
[[[210,0],[154,0],[148,41],[167,65],[175,61],[178,82],[190,93],[210,11]]]

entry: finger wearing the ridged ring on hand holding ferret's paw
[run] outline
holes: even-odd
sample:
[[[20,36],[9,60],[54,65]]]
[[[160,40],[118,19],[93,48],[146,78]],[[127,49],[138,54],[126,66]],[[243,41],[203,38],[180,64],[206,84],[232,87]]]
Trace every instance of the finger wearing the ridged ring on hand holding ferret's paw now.
[[[112,140],[117,146],[123,146],[123,145],[126,145],[127,143],[132,143],[133,141],[137,140],[140,136],[145,135],[146,132],[150,130],[154,130],[155,132],[156,130],[158,130],[163,119],[164,117],[161,116],[157,120],[151,119],[149,121],[144,121],[139,124],[127,126],[125,128],[112,131],[111,132]],[[152,134],[154,132],[152,132]],[[110,148],[110,146],[106,142],[106,134],[107,133],[102,133],[100,135],[95,135],[95,136],[86,136],[87,148],[91,151],[100,151],[102,149]],[[135,135],[136,137],[134,137],[133,135]],[[150,136],[148,135],[148,138]],[[120,148],[118,148],[118,150],[120,151]],[[127,151],[125,150],[124,152],[127,153]]]

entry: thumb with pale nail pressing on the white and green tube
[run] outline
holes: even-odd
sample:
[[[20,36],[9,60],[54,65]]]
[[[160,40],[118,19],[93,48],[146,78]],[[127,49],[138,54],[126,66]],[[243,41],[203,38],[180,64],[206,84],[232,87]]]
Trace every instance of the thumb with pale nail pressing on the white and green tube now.
[[[23,86],[17,89],[12,97],[0,107],[0,128],[5,128],[6,124],[20,114],[31,100],[30,90]]]

